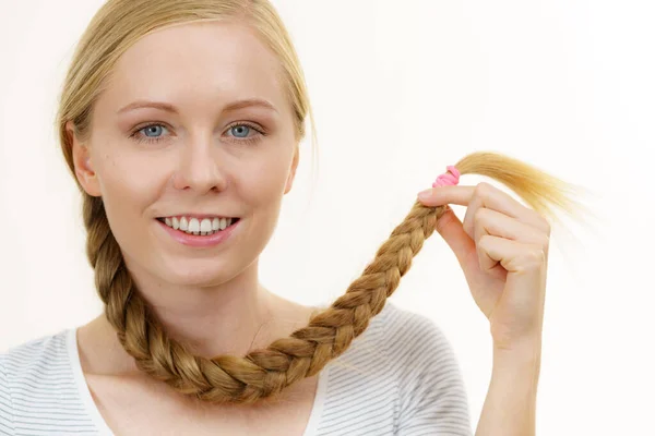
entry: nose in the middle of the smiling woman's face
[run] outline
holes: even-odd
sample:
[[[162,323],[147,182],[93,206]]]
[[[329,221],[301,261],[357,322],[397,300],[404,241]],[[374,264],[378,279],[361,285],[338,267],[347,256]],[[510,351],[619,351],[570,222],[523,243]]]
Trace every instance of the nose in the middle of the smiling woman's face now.
[[[180,149],[179,166],[174,175],[176,189],[200,194],[225,190],[224,159],[218,156],[219,147],[211,134],[191,136]]]

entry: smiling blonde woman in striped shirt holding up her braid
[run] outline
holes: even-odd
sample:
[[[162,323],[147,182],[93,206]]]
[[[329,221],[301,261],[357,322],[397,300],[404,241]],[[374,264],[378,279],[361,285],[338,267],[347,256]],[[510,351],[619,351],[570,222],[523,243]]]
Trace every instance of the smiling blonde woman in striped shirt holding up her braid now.
[[[307,117],[296,52],[266,0],[100,9],[58,126],[105,314],[0,355],[0,434],[471,434],[457,362],[428,318],[355,286],[323,311],[259,283]],[[534,434],[548,222],[486,183],[419,198],[467,206],[463,222],[450,210],[422,221],[490,320],[476,434]],[[407,267],[381,269],[381,284],[370,269],[358,286],[393,291]]]

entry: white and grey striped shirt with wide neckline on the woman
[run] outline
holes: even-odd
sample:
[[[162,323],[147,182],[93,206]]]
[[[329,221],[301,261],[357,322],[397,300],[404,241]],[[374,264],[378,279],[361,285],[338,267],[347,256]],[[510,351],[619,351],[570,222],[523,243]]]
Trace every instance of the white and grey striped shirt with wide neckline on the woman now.
[[[112,435],[85,383],[76,329],[0,354],[0,435]],[[429,318],[386,302],[320,373],[303,436],[472,434],[461,368]]]

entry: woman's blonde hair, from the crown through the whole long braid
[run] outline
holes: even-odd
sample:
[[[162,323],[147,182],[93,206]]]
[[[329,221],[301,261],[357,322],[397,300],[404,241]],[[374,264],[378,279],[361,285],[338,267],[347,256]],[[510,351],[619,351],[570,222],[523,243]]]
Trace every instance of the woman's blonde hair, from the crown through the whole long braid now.
[[[444,207],[414,207],[378,250],[374,259],[330,307],[314,313],[307,327],[290,337],[253,350],[246,356],[193,355],[188,346],[171,339],[140,295],[111,233],[103,199],[88,195],[75,178],[71,138],[66,124],[84,142],[92,111],[111,69],[126,50],[143,36],[183,23],[239,20],[258,31],[278,57],[288,101],[295,114],[297,138],[305,136],[305,120],[313,116],[303,73],[285,26],[267,0],[109,0],[90,23],[73,56],[63,84],[57,129],[64,159],[83,195],[87,231],[86,255],[105,315],[138,367],[177,391],[203,401],[253,403],[273,399],[287,386],[320,372],[343,354],[383,308],[434,231]],[[313,137],[315,145],[315,136]],[[537,211],[552,215],[550,205],[572,210],[568,185],[519,160],[493,153],[475,153],[455,164],[462,174],[477,173],[498,180]]]

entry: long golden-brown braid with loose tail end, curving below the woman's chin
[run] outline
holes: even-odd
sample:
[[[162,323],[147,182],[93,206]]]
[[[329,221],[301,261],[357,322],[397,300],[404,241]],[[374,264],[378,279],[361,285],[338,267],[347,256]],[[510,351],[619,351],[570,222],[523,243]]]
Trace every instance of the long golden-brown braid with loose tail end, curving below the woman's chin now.
[[[462,174],[478,173],[505,183],[546,215],[551,213],[545,198],[569,211],[574,208],[564,194],[569,185],[507,156],[476,153],[455,167]],[[184,344],[169,338],[130,278],[102,199],[85,197],[84,222],[88,231],[87,255],[106,316],[138,367],[181,393],[215,403],[248,404],[274,398],[344,353],[382,311],[446,207],[426,207],[416,202],[345,294],[314,314],[307,327],[243,358],[195,356]]]

